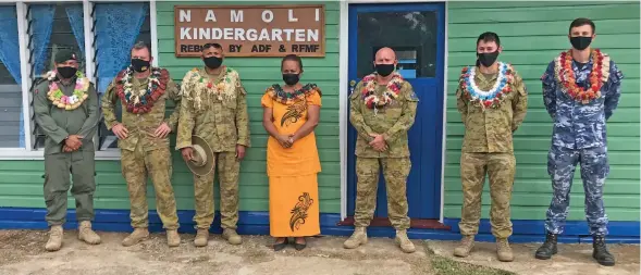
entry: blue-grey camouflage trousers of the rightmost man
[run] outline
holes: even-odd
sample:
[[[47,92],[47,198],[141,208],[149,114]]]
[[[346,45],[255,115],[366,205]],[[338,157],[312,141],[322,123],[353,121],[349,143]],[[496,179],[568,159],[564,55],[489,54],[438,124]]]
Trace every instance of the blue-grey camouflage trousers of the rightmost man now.
[[[590,234],[607,235],[607,215],[603,207],[603,185],[609,174],[607,148],[570,149],[552,146],[547,154],[547,173],[554,191],[546,213],[545,229],[562,234],[570,204],[570,188],[578,163],[585,192],[585,218]]]

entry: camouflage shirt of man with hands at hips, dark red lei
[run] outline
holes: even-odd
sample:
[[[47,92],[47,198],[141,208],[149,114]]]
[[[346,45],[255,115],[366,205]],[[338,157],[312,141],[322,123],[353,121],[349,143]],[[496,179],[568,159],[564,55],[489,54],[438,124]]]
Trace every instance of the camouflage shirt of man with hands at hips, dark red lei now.
[[[145,151],[151,151],[163,147],[169,147],[169,135],[165,138],[157,138],[155,136],[156,129],[164,122],[169,125],[172,132],[176,130],[176,124],[178,121],[178,112],[181,107],[181,97],[178,95],[178,88],[175,83],[169,76],[169,72],[164,68],[159,70],[163,75],[162,78],[167,78],[167,87],[162,96],[153,102],[153,107],[148,113],[135,114],[126,111],[126,108],[122,108],[122,124],[127,128],[127,138],[120,139],[118,146],[127,151],[134,151],[138,142],[143,142]],[[102,112],[104,114],[104,124],[108,129],[111,129],[119,122],[115,117],[115,104],[122,99],[118,95],[118,86],[123,85],[121,76],[125,71],[119,73],[113,82],[107,87],[104,96],[102,96]],[[161,79],[162,82],[162,79]],[[148,88],[149,77],[137,79],[132,77],[132,89],[146,90]],[[169,118],[164,118],[167,100],[174,102],[175,109]]]

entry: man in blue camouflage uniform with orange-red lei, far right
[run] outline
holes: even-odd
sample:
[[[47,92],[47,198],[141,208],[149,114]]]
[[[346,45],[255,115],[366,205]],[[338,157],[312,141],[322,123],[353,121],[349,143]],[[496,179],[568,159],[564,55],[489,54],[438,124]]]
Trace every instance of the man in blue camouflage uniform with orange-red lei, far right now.
[[[564,229],[572,178],[580,162],[585,218],[593,236],[592,257],[612,266],[615,259],[605,246],[607,215],[603,207],[603,185],[609,173],[605,122],[617,108],[624,75],[607,54],[590,48],[594,32],[592,21],[575,20],[568,35],[572,49],[550,62],[541,78],[543,102],[554,121],[547,154],[554,193],[546,213],[547,236],[535,258],[546,260],[557,252],[557,236]],[[593,68],[601,71],[601,78],[592,77]],[[565,80],[569,78],[576,80]]]

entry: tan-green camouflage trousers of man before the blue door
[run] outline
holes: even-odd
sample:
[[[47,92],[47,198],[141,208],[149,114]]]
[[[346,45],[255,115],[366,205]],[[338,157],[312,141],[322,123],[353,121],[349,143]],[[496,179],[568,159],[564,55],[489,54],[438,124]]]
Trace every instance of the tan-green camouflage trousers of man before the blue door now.
[[[387,213],[392,226],[397,230],[409,228],[407,216],[407,176],[411,170],[409,158],[357,158],[356,210],[357,227],[369,226],[377,207],[377,191],[381,167],[387,191]]]

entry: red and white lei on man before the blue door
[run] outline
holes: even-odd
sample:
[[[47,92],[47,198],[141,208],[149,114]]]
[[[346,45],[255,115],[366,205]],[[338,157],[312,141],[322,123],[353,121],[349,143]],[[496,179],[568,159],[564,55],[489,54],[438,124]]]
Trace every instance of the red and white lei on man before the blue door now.
[[[392,102],[393,99],[398,98],[400,88],[403,87],[403,76],[398,73],[392,74],[392,79],[387,83],[386,90],[383,92],[382,99],[375,95],[377,92],[377,74],[370,74],[362,78],[365,83],[361,91],[365,104],[369,109],[383,108]]]

